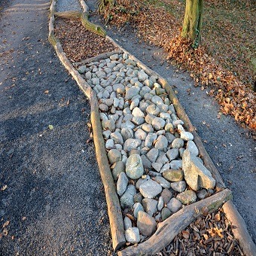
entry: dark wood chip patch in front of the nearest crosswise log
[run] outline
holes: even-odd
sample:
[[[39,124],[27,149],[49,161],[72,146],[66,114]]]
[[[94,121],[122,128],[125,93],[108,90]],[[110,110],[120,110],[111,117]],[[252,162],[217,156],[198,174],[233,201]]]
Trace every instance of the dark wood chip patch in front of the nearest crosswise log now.
[[[218,212],[197,218],[186,230],[182,230],[175,239],[157,253],[157,256],[194,256],[194,255],[244,255],[239,242],[234,238],[230,222],[224,212]]]

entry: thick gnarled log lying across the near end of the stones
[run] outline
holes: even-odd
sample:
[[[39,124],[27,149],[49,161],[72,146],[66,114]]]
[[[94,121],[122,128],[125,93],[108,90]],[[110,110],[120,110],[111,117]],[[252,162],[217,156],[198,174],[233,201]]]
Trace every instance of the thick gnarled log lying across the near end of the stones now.
[[[165,221],[160,222],[157,231],[145,242],[134,245],[118,251],[118,256],[126,255],[153,255],[165,248],[172,242],[181,230],[184,230],[190,223],[195,221],[200,215],[215,212],[225,202],[231,200],[232,194],[228,189],[221,190],[190,206],[184,206],[183,209],[176,212]]]

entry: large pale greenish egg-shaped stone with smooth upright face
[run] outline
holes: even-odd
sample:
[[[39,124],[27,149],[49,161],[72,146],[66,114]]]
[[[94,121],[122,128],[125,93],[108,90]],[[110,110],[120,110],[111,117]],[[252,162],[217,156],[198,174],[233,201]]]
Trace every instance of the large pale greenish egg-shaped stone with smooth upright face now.
[[[142,158],[139,154],[132,154],[126,161],[126,175],[129,178],[141,178],[144,172]]]

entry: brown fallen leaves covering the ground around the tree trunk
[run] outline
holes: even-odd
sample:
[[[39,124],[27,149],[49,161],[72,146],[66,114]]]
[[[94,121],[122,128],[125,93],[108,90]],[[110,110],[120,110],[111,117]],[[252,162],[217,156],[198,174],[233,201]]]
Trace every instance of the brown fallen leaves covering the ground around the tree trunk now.
[[[251,90],[256,81],[254,1],[206,1],[203,43],[198,49],[179,36],[184,2],[116,3],[114,8],[102,10],[106,22],[120,27],[132,25],[139,38],[163,47],[170,62],[191,72],[196,86],[209,89],[207,95],[217,99],[223,114],[232,115],[256,136],[256,93]]]

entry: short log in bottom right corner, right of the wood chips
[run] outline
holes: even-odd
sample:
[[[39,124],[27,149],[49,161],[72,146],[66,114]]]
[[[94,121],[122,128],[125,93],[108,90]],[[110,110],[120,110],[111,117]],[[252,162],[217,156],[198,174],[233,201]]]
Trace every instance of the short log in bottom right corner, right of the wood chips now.
[[[233,205],[232,201],[224,203],[222,209],[226,215],[228,221],[230,221],[231,229],[234,236],[239,241],[239,245],[242,247],[242,252],[245,255],[256,256],[256,246],[249,236],[247,228],[245,226],[245,221],[236,207]]]

